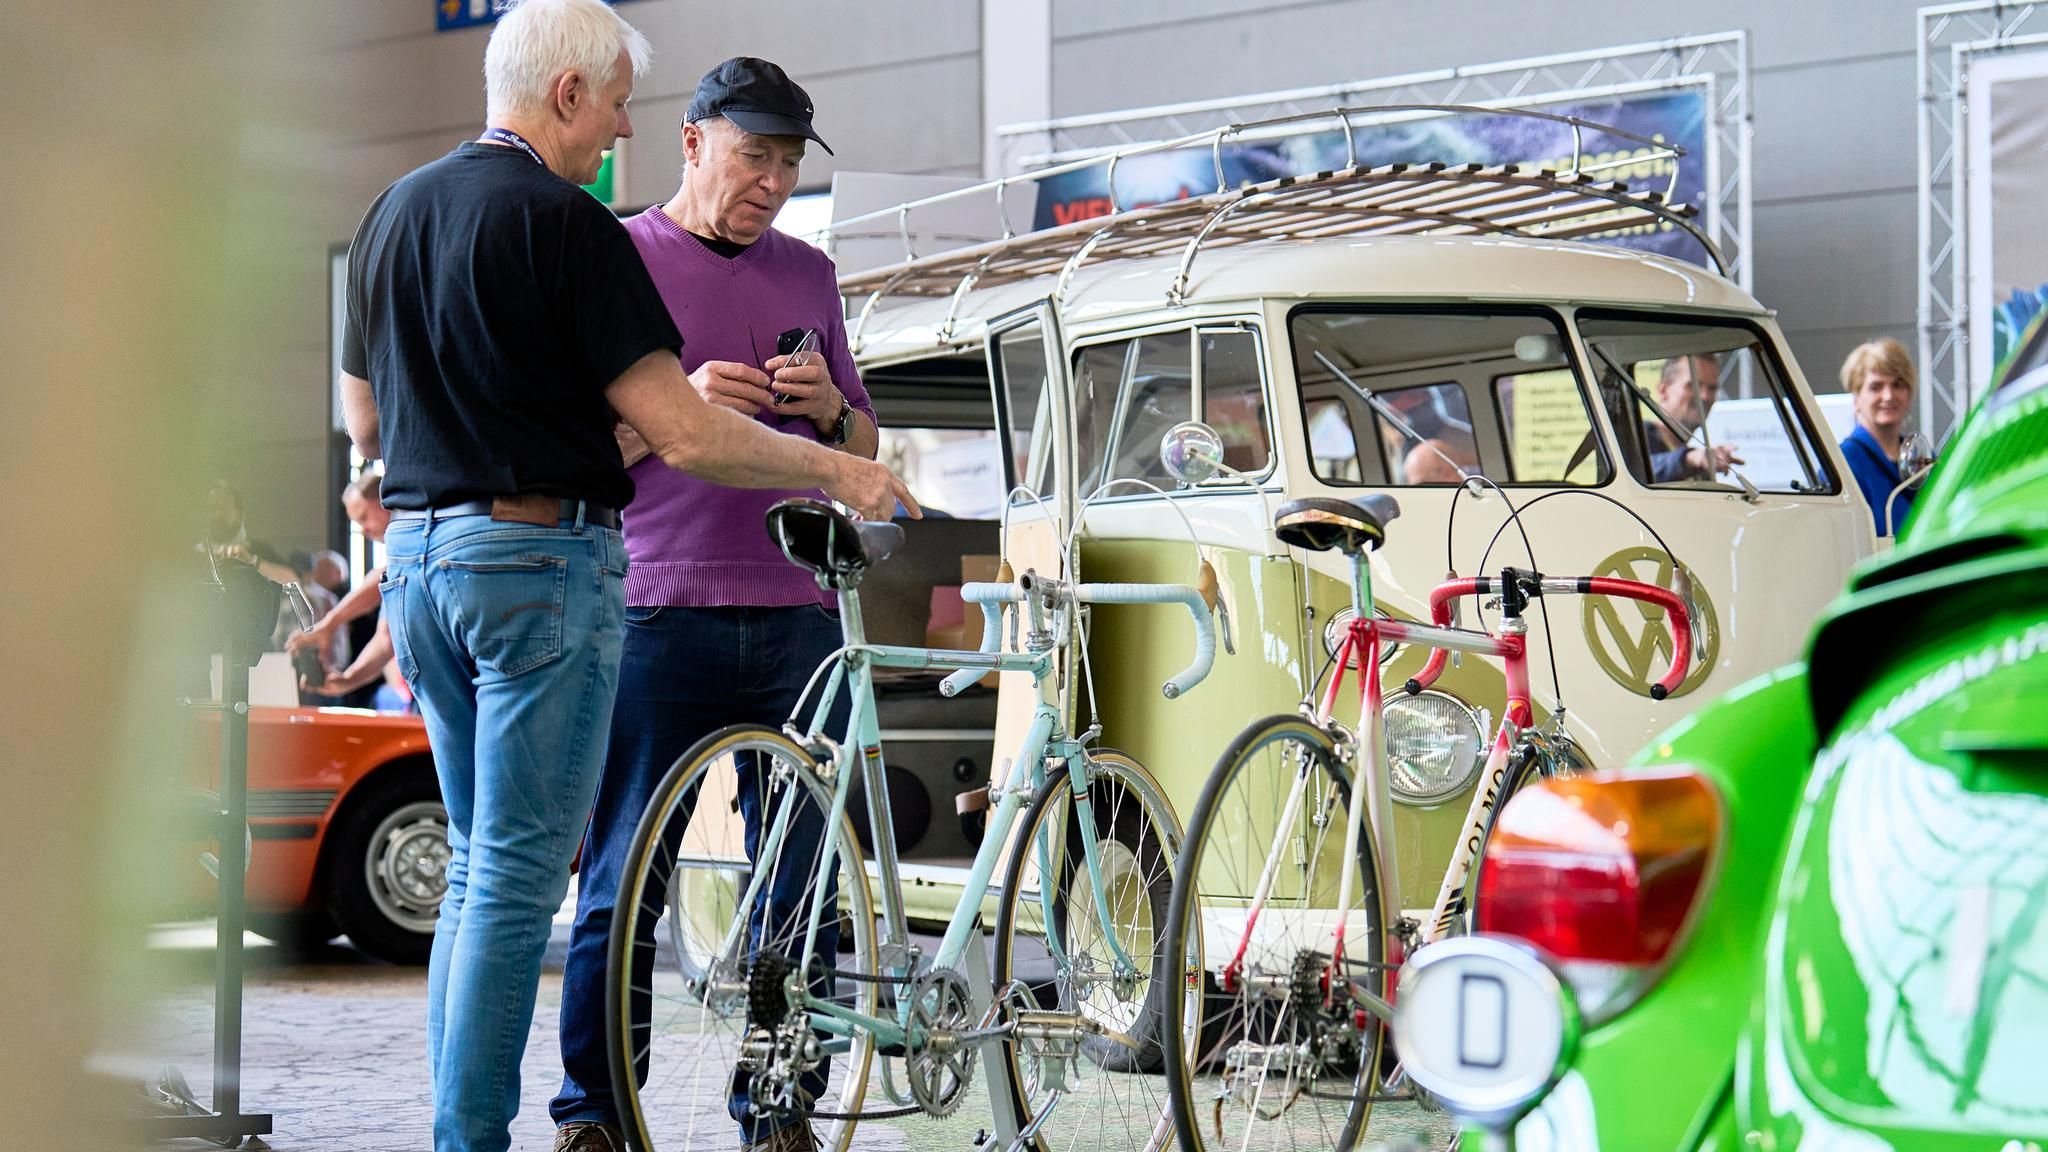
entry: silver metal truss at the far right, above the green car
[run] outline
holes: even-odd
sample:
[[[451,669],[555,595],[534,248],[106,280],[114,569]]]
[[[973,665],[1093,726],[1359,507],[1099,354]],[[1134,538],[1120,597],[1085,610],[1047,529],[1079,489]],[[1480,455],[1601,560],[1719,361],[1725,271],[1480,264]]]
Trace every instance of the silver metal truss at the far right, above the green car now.
[[[1919,33],[1919,424],[1939,441],[1989,383],[1970,379],[1970,64],[2048,49],[2048,0],[1921,8]]]

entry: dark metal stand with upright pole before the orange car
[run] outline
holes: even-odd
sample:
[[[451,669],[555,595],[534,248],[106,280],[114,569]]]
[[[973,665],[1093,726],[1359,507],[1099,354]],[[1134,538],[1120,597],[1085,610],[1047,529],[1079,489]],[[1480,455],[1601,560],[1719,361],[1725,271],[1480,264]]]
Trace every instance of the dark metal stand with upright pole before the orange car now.
[[[262,652],[276,623],[283,588],[246,564],[217,564],[201,592],[211,601],[221,637],[219,701],[188,701],[195,711],[221,713],[221,779],[217,793],[201,793],[205,826],[215,832],[219,857],[201,857],[215,877],[219,920],[213,939],[213,1103],[193,1099],[176,1066],[166,1066],[147,1088],[139,1117],[145,1140],[211,1140],[221,1148],[266,1148],[270,1113],[242,1111],[242,929],[248,920],[248,750],[250,662]]]

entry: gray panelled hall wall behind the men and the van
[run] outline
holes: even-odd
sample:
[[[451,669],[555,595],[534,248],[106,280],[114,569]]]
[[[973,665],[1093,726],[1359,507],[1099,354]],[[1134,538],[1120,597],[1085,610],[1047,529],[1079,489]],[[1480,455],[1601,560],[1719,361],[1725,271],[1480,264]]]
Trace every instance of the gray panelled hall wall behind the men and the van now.
[[[1821,389],[1855,342],[1915,328],[1913,43],[1917,0],[991,0],[1051,4],[1053,115],[1329,84],[1454,64],[1751,33],[1755,289],[1782,312]],[[283,150],[303,187],[301,248],[260,254],[293,307],[270,334],[268,402],[244,412],[256,535],[324,537],[328,435],[326,252],[408,168],[471,135],[483,113],[485,29],[434,33],[428,0],[276,4],[299,55],[268,61]],[[289,12],[285,16],[283,12]],[[981,4],[973,0],[633,0],[655,47],[633,100],[625,197],[666,199],[674,125],[698,74],[770,55],[817,98],[838,156],[813,150],[805,184],[850,170],[981,170]],[[1544,12],[1536,16],[1534,12]],[[311,148],[307,148],[311,143]],[[279,141],[250,141],[250,148]],[[270,379],[266,377],[266,379]],[[338,515],[338,512],[336,512]]]

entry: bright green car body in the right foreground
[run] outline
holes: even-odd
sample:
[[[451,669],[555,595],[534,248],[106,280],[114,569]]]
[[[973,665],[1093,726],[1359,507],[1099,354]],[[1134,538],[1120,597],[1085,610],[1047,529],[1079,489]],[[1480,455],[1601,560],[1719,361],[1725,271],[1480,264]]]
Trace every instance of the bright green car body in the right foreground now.
[[[1718,873],[1524,1148],[2048,1148],[2048,328],[1806,660],[1636,763],[1714,781]]]

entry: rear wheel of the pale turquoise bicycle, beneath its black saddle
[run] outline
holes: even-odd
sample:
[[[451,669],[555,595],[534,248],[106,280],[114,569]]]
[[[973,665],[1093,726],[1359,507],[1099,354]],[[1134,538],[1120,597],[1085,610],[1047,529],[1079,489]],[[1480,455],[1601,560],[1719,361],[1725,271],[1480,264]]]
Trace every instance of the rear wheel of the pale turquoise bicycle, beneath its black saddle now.
[[[612,1093],[633,1148],[727,1150],[741,1144],[741,1121],[752,1138],[809,1123],[819,1148],[852,1142],[854,1121],[836,1117],[860,1111],[872,1039],[803,1027],[786,996],[805,968],[829,810],[811,756],[760,726],[707,736],[655,787],[621,877],[606,998]],[[784,812],[782,840],[756,861],[748,824],[766,838]],[[770,869],[764,898],[741,908],[756,867]],[[850,818],[829,881],[805,986],[872,1015],[874,908]]]

